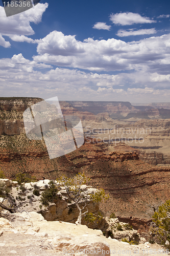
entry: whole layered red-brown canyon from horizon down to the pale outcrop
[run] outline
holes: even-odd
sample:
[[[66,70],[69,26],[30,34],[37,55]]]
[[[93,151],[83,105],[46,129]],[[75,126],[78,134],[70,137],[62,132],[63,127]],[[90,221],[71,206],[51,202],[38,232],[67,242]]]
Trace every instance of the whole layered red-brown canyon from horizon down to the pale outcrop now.
[[[168,112],[129,102],[61,101],[63,115],[81,118],[85,143],[50,159],[44,141],[28,139],[23,125],[23,111],[41,100],[0,99],[0,167],[6,177],[12,180],[22,172],[56,179],[84,173],[90,178],[87,185],[110,195],[101,205],[106,216],[115,212],[137,229],[142,223],[144,230],[152,215],[149,204],[160,204],[169,196],[170,119],[162,119]],[[140,118],[142,111],[147,118]]]

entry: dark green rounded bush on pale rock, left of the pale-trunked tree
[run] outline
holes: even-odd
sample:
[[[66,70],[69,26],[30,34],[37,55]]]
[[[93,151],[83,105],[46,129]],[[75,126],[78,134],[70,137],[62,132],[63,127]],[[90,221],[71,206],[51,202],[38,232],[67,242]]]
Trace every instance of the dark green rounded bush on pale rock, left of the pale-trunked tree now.
[[[58,187],[56,186],[56,184],[51,180],[50,182],[48,182],[48,188],[46,188],[42,194],[41,194],[41,203],[45,206],[48,206],[49,203],[52,203],[54,201],[54,199],[58,198]]]

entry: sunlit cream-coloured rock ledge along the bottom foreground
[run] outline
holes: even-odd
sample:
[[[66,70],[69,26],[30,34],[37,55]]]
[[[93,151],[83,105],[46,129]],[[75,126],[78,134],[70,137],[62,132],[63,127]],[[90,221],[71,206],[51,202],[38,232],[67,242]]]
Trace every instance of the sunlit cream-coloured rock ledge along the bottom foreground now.
[[[37,212],[9,214],[0,218],[1,255],[155,255],[165,248],[149,242],[129,245],[103,236],[101,230],[61,221],[46,221]],[[152,251],[151,251],[152,250]],[[81,253],[80,253],[81,252]],[[160,253],[161,252],[161,253]],[[71,254],[72,253],[72,254]]]

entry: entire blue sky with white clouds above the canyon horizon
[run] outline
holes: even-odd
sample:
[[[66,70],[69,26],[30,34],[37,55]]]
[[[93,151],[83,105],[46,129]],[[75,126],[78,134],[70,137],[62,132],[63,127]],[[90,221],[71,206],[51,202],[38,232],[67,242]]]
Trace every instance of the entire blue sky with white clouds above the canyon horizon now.
[[[0,6],[0,95],[169,102],[169,0]]]

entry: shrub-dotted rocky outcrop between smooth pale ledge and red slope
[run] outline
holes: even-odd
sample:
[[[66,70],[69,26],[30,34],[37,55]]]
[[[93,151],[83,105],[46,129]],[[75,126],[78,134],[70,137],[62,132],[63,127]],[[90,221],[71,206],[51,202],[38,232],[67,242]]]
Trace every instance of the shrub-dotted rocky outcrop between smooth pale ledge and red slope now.
[[[10,207],[11,204],[14,204],[12,211],[13,212],[31,212],[36,211],[39,212],[45,220],[47,221],[65,221],[69,223],[76,223],[79,210],[75,204],[75,202],[70,201],[67,196],[66,190],[62,187],[62,184],[56,183],[58,186],[58,196],[54,199],[53,202],[49,203],[48,206],[42,205],[41,196],[42,192],[47,189],[48,183],[50,180],[42,180],[38,182],[31,182],[31,183],[22,183],[18,185],[17,181],[11,181],[9,179],[0,179],[0,193],[4,195],[3,190],[8,191],[7,196],[4,198],[0,197],[1,207],[0,207],[0,214],[4,212],[4,206]],[[3,187],[3,186],[4,187]],[[38,191],[38,194],[35,193]],[[94,194],[97,189],[92,188],[91,186],[82,185],[81,190],[85,194]],[[146,242],[144,238],[140,236],[143,234],[146,238],[149,238],[149,225],[147,232],[141,232],[142,230],[133,229],[132,226],[126,224],[124,222],[119,222],[117,218],[108,218],[104,217],[103,212],[100,210],[100,203],[95,203],[92,200],[82,200],[79,202],[79,206],[83,209],[86,203],[86,208],[83,210],[87,211],[95,216],[99,215],[100,212],[100,219],[96,219],[93,222],[88,222],[82,216],[81,224],[87,225],[90,228],[97,228],[103,231],[106,237],[111,236],[111,238],[117,239],[122,241],[122,239],[127,239],[129,242],[135,241],[137,243]],[[10,212],[7,211],[9,215]],[[10,215],[11,216],[11,215]],[[103,217],[101,217],[103,216]],[[13,219],[11,219],[14,221]],[[18,221],[18,220],[15,220]],[[151,220],[150,220],[151,221]],[[15,223],[16,225],[16,223]]]

